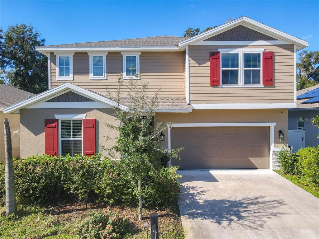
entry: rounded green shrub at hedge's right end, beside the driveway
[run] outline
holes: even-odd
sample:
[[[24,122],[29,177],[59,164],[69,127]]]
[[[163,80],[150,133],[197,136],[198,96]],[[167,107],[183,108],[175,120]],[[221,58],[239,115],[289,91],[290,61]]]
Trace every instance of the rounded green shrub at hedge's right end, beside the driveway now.
[[[176,173],[178,167],[162,168],[157,175],[149,177],[149,186],[146,188],[145,204],[156,207],[174,207],[181,192],[181,184]]]

